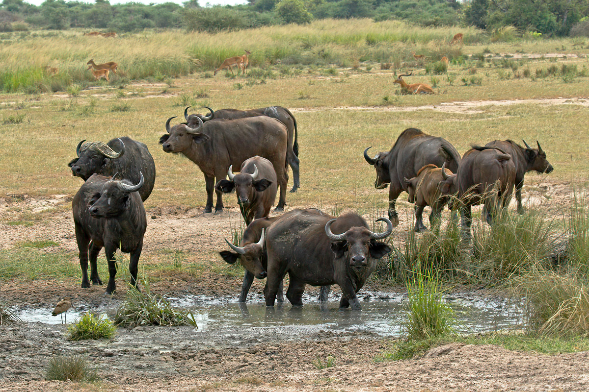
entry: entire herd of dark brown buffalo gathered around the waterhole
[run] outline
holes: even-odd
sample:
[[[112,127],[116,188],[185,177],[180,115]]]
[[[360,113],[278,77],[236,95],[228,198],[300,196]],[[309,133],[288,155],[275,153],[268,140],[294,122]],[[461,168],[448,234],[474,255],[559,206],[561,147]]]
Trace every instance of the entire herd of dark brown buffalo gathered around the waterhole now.
[[[210,108],[208,115],[188,115],[186,122],[171,126],[160,138],[164,152],[181,153],[203,172],[207,203],[205,213],[223,210],[223,193],[235,191],[246,222],[239,246],[226,240],[231,249],[221,257],[230,264],[240,262],[245,270],[239,301],[247,300],[254,278],[266,279],[266,306],[283,301],[283,279],[288,274],[286,297],[301,306],[307,284],[320,286],[320,301],[326,301],[332,284],[342,290],[340,308],[360,310],[358,290],[375,270],[378,259],[391,247],[383,242],[399,224],[396,199],[402,192],[415,204],[415,231],[423,232],[423,209],[431,207],[433,226],[444,206],[461,215],[462,240],[470,238],[471,207],[483,204],[483,217],[491,225],[498,208],[507,206],[515,188],[518,212],[523,213],[521,189],[531,170],[550,173],[553,168],[540,143],[531,148],[512,140],[495,140],[472,146],[462,157],[448,140],[409,128],[399,135],[388,152],[364,159],[376,170],[375,187],[389,186],[388,218],[383,232],[372,232],[362,216],[344,213],[330,216],[317,209],[294,209],[269,217],[286,205],[288,167],[293,170],[293,188],[299,182],[297,122],[281,106],[237,110]],[[82,140],[77,158],[68,166],[84,184],[74,197],[75,234],[80,250],[82,287],[102,284],[97,255],[104,247],[108,261],[107,294],[115,290],[117,249],[130,253],[131,284],[137,287],[137,264],[143,247],[147,219],[143,202],[155,183],[154,160],[145,146],[127,137],[108,143]],[[239,168],[239,173],[233,170]],[[229,179],[227,179],[229,177]],[[88,279],[90,260],[90,279]]]

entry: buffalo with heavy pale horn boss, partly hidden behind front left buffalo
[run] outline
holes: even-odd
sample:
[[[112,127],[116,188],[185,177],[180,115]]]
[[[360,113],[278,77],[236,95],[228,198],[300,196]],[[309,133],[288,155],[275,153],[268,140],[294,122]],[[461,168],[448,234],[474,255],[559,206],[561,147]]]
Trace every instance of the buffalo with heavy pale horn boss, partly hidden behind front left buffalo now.
[[[147,146],[131,138],[112,139],[107,144],[102,142],[78,143],[74,158],[68,163],[72,174],[88,180],[94,173],[112,177],[118,173],[120,179],[136,184],[143,173],[144,185],[139,191],[141,200],[147,200],[155,183],[155,163]],[[115,150],[118,150],[116,152]]]

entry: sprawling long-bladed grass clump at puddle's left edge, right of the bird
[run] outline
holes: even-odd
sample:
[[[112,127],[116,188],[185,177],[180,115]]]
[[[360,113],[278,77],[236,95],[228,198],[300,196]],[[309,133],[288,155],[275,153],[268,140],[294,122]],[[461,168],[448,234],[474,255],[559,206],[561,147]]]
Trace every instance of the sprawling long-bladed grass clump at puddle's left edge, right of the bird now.
[[[170,301],[151,294],[149,282],[143,280],[145,293],[129,287],[125,301],[118,307],[114,323],[118,327],[136,326],[193,326],[197,327],[190,310],[175,309]]]

